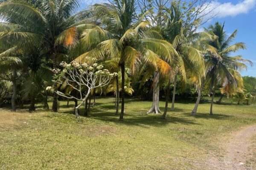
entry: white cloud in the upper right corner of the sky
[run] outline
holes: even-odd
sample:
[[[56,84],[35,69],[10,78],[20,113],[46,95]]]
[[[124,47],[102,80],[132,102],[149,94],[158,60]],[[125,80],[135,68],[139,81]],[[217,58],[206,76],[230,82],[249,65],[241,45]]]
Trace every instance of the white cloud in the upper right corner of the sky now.
[[[256,0],[242,0],[236,4],[213,1],[211,8],[215,8],[214,12],[217,14],[217,17],[234,17],[238,14],[246,14],[250,9],[254,8],[255,5]]]

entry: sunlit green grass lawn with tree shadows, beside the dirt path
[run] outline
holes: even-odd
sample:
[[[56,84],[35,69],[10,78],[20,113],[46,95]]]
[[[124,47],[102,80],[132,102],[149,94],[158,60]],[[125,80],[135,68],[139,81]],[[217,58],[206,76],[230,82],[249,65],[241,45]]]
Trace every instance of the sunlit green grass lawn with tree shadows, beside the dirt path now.
[[[221,136],[256,123],[256,106],[177,103],[176,110],[146,114],[151,102],[127,99],[124,120],[114,98],[96,99],[79,120],[73,102],[60,113],[0,110],[1,170],[188,170],[204,169],[207,153],[222,151]],[[163,111],[165,103],[160,102]],[[81,109],[80,114],[84,111]]]

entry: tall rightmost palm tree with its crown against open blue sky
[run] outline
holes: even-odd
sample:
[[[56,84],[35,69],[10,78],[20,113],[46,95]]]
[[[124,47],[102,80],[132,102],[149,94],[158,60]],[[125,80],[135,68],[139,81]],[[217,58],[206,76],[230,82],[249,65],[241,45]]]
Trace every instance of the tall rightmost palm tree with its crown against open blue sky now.
[[[224,24],[221,25],[217,22],[214,26],[209,26],[208,31],[218,37],[214,41],[209,42],[209,44],[218,50],[219,57],[213,57],[212,55],[205,56],[207,81],[209,82],[210,94],[212,94],[210,114],[213,114],[212,106],[217,85],[221,84],[223,87],[225,87],[228,83],[234,84],[235,86],[237,86],[237,84],[241,84],[237,82],[238,79],[233,73],[236,70],[241,71],[246,69],[247,65],[244,63],[247,62],[252,64],[252,62],[247,59],[242,59],[242,56],[230,56],[231,53],[246,48],[245,44],[242,42],[237,42],[230,45],[230,43],[236,37],[237,30],[234,31],[230,36],[227,36],[226,32],[224,31]],[[241,77],[239,72],[236,72],[236,75]]]

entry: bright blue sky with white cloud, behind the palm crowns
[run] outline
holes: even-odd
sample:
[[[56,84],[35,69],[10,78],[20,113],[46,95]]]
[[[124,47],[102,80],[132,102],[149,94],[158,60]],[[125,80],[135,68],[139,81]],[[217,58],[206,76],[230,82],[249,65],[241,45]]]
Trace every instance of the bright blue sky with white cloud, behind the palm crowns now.
[[[107,0],[83,0],[83,6],[94,3],[106,2]],[[217,14],[212,20],[204,24],[208,27],[216,21],[225,22],[224,29],[227,34],[238,29],[235,42],[244,42],[247,50],[236,52],[235,55],[242,55],[253,62],[253,67],[248,66],[247,71],[242,71],[243,76],[256,77],[256,0],[213,0],[212,5]]]

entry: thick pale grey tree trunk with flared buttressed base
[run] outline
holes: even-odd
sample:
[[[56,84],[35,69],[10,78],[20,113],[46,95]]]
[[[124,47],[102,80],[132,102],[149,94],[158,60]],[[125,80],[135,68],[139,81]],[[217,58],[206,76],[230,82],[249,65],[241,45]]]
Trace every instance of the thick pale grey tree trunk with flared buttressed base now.
[[[160,109],[159,109],[159,91],[160,91],[160,87],[159,87],[159,72],[155,71],[154,73],[154,84],[153,84],[153,103],[151,108],[149,109],[149,111],[147,113],[161,113]]]

